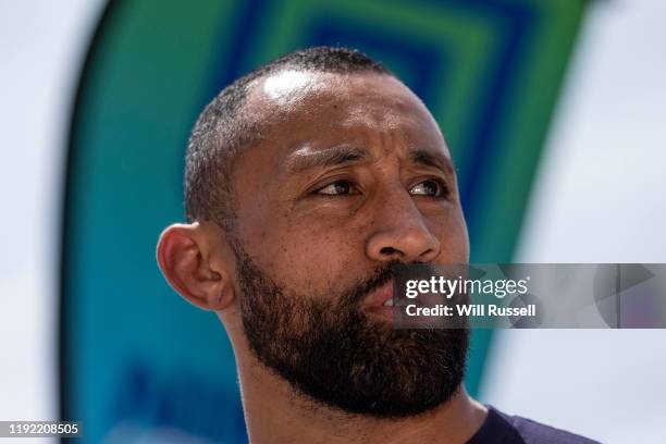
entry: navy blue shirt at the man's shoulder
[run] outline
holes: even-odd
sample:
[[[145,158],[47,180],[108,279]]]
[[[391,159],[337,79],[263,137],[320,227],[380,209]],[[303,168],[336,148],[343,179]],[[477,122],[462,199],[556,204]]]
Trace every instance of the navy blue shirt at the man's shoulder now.
[[[599,444],[564,430],[540,424],[530,419],[508,416],[490,407],[481,429],[467,444]]]

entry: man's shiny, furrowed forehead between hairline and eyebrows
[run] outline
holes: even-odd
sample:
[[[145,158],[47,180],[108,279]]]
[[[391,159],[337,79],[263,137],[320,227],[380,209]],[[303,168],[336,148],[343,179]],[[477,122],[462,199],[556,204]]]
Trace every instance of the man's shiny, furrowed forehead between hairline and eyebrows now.
[[[390,75],[286,70],[250,85],[246,111],[266,130],[264,140],[284,155],[304,143],[313,148],[351,143],[418,145],[448,156],[424,104]]]

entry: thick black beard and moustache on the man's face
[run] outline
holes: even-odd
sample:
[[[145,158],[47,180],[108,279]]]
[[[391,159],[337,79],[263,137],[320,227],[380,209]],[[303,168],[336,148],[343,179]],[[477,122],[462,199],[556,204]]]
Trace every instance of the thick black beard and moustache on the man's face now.
[[[394,262],[346,289],[298,294],[232,244],[249,348],[296,393],[347,414],[400,418],[446,403],[460,387],[468,329],[394,330],[361,311]]]

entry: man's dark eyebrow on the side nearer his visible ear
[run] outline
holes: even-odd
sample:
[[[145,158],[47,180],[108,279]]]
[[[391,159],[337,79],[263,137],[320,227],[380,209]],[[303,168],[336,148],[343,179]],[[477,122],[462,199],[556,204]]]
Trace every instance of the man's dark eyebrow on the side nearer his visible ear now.
[[[313,150],[310,147],[304,147],[287,158],[285,170],[288,174],[295,174],[314,168],[356,163],[370,158],[370,152],[367,150],[350,146],[338,146],[325,150]]]

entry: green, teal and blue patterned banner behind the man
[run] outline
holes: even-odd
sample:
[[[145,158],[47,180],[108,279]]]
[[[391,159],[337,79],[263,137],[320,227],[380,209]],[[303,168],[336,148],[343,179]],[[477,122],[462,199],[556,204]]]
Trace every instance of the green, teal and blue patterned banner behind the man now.
[[[61,304],[63,419],[84,441],[164,430],[245,442],[234,357],[217,317],[177,297],[155,260],[183,220],[186,140],[201,108],[256,65],[342,45],[382,61],[440,123],[477,262],[511,260],[580,26],[583,0],[111,3],[75,102]],[[474,332],[478,392],[491,331]]]

